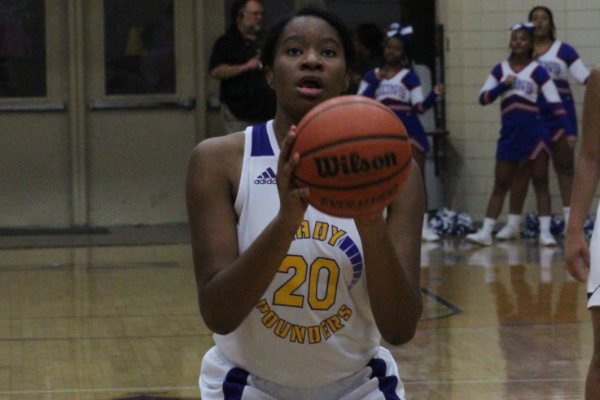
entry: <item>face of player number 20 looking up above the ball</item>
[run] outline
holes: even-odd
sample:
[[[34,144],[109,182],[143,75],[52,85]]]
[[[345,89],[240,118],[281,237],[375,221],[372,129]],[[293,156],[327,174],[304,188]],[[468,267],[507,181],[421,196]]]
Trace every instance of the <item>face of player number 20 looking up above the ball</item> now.
[[[350,82],[340,35],[313,16],[296,17],[287,24],[277,41],[273,67],[265,70],[277,95],[277,113],[286,112],[296,120],[339,96]]]

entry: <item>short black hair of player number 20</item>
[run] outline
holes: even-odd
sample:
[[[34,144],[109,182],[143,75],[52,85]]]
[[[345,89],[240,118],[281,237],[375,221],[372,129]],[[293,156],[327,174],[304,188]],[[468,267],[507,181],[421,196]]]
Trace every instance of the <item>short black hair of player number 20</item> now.
[[[331,25],[340,35],[342,40],[342,47],[344,48],[344,59],[346,61],[346,68],[349,69],[354,63],[354,37],[352,31],[344,20],[338,15],[327,11],[320,7],[304,7],[295,13],[286,15],[280,18],[275,24],[269,28],[266,35],[261,41],[261,62],[263,65],[273,68],[275,62],[275,47],[277,41],[281,37],[283,30],[294,18],[298,17],[316,17],[324,20]]]

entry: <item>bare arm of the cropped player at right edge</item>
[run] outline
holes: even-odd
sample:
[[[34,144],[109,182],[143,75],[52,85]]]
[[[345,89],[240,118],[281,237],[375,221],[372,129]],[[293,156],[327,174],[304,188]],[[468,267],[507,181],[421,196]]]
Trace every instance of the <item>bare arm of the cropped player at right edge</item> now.
[[[583,224],[600,181],[600,64],[592,69],[583,102],[582,145],[575,168],[571,214],[567,226],[565,258],[569,273],[583,282],[580,265],[589,269],[589,251],[583,237]]]

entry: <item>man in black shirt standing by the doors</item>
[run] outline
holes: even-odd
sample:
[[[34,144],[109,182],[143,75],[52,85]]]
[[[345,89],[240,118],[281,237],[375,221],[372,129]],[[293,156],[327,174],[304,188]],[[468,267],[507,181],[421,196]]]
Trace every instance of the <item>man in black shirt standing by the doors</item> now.
[[[217,39],[210,56],[210,76],[221,81],[221,118],[227,133],[275,116],[275,92],[258,60],[263,14],[260,1],[236,0],[231,25]]]

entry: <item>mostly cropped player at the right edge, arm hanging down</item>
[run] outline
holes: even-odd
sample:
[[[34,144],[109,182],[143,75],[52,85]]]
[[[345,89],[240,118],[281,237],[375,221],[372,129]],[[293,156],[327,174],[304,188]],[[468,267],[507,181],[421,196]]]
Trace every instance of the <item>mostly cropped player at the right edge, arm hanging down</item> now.
[[[592,199],[600,182],[600,64],[588,78],[583,101],[583,128],[581,153],[575,168],[571,217],[567,226],[565,259],[569,273],[578,281],[587,279],[588,308],[592,313],[594,328],[594,353],[585,385],[586,400],[600,398],[600,207],[596,225],[588,249],[583,236],[583,222],[592,205]],[[583,261],[583,265],[581,263]]]

